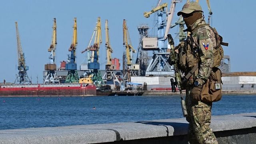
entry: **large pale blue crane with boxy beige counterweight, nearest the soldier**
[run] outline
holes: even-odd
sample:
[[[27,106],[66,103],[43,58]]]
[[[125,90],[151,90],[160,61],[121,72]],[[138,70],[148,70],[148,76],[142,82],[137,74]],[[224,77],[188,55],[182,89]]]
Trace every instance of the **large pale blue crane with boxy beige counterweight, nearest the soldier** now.
[[[167,3],[160,5],[160,2],[161,1],[159,0],[158,5],[155,8],[153,8],[150,12],[144,12],[145,18],[148,18],[150,14],[156,12],[158,19],[156,23],[158,32],[157,37],[144,37],[142,40],[143,50],[157,50],[157,52],[153,52],[153,57],[150,60],[145,72],[146,76],[166,76],[174,74],[170,64],[168,64],[167,62],[169,56],[169,52],[167,51],[167,34],[171,26],[176,3],[180,1],[172,0],[169,12],[165,10],[167,8]],[[167,21],[163,18],[165,14],[167,14]]]

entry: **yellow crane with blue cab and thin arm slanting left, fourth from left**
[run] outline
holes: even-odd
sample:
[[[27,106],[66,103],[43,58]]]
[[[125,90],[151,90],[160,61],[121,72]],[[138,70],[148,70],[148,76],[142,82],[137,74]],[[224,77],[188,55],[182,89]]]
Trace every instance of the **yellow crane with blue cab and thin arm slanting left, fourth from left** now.
[[[90,45],[93,37],[94,37],[94,44]],[[98,17],[96,27],[90,39],[89,45],[85,50],[81,51],[81,53],[84,53],[86,51],[91,51],[90,58],[88,58],[89,77],[92,78],[92,82],[96,86],[102,86],[104,84],[104,81],[102,80],[102,75],[100,74],[100,71],[99,71],[100,63],[98,62],[99,49],[100,49],[101,43],[102,43],[101,21],[100,21],[100,17]],[[84,74],[84,75],[88,75],[88,74]]]

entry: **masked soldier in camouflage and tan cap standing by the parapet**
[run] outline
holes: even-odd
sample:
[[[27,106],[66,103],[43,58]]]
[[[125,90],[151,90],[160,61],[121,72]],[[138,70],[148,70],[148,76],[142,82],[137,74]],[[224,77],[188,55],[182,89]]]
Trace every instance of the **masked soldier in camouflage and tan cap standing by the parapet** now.
[[[214,67],[213,50],[216,47],[214,31],[204,21],[203,11],[197,2],[184,4],[178,16],[182,15],[187,26],[184,31],[190,36],[183,43],[183,50],[179,48],[179,69],[185,73],[193,73],[186,80],[186,107],[189,122],[188,136],[190,144],[218,144],[212,129],[212,102],[200,100],[202,85],[210,77]],[[186,57],[184,56],[184,53]],[[183,61],[182,61],[183,59]],[[185,62],[184,62],[185,61]],[[184,64],[182,64],[184,62]]]

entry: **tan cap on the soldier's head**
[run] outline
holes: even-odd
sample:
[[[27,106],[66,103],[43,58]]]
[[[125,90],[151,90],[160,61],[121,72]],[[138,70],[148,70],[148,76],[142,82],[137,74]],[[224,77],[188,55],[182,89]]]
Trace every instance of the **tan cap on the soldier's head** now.
[[[177,15],[180,16],[182,13],[190,14],[191,12],[194,12],[194,11],[202,12],[201,6],[198,4],[198,2],[188,2],[184,4],[184,6],[182,7],[182,10],[179,11]]]

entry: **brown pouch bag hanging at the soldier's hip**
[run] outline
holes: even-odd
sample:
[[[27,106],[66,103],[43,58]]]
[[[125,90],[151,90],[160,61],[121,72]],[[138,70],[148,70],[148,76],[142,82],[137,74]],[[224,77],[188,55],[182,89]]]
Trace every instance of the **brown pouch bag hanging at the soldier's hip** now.
[[[200,98],[202,102],[217,102],[222,97],[222,81],[221,81],[221,71],[219,68],[212,68],[210,78],[203,85],[202,91],[200,93]]]

